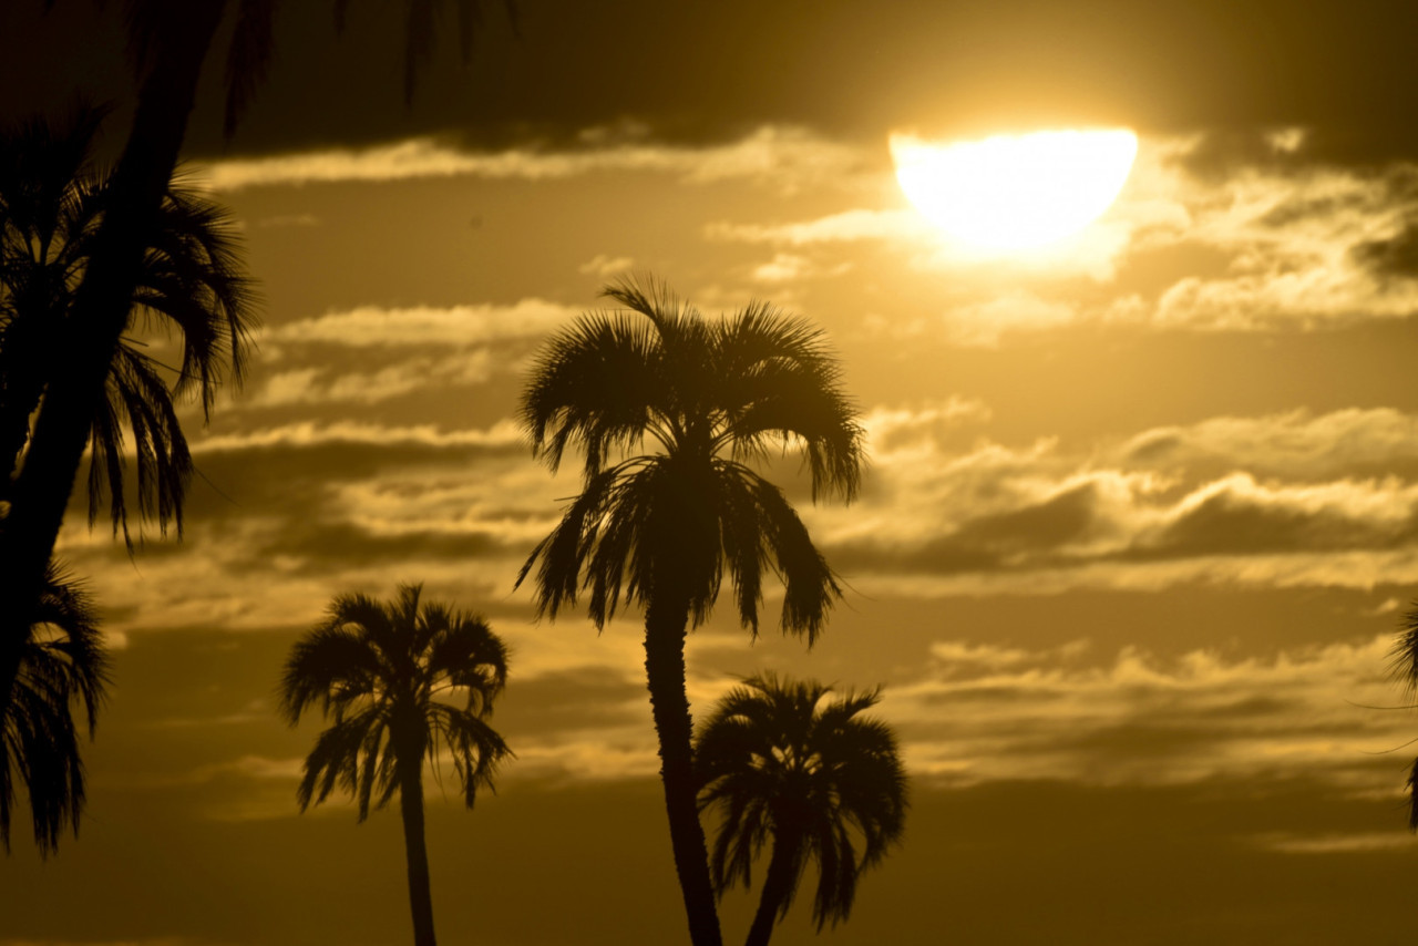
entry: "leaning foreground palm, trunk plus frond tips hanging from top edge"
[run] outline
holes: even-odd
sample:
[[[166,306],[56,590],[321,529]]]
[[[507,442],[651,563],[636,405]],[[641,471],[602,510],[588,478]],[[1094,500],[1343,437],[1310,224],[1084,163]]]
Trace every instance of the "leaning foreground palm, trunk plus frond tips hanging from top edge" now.
[[[406,95],[427,60],[437,11],[454,3],[469,37],[478,0],[403,0]],[[52,6],[54,0],[47,0]],[[252,99],[274,52],[278,0],[126,0],[129,48],[138,79],[138,108],[128,143],[108,184],[104,218],[94,233],[88,267],[74,294],[67,370],[52,379],[34,423],[24,468],[10,492],[0,532],[0,562],[10,569],[0,584],[0,698],[18,669],[18,642],[33,620],[44,570],[64,522],[95,410],[128,329],[143,258],[162,220],[177,153],[187,135],[203,65],[218,27],[231,13],[225,55],[227,132]],[[335,0],[339,13],[349,0]],[[509,3],[509,10],[512,4]],[[469,50],[467,40],[464,51]]]

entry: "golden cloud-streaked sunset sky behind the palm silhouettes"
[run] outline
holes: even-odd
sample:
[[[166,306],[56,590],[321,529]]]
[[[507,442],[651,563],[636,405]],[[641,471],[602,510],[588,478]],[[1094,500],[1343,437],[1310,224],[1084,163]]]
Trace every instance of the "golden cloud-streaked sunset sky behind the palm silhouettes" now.
[[[274,698],[332,596],[401,581],[512,650],[498,794],[428,791],[440,939],[683,940],[640,614],[513,589],[579,489],[519,391],[635,272],[821,326],[868,434],[849,506],[774,468],[848,589],[822,640],[771,590],[756,642],[725,603],[688,644],[696,712],[766,669],[879,684],[902,742],[903,845],[774,943],[1411,940],[1418,713],[1380,708],[1418,587],[1418,6],[489,3],[407,108],[398,4],[339,38],[329,6],[285,4],[230,143],[210,69],[186,167],[259,350],[189,413],[183,540],[71,511],[113,688],[78,840],[0,859],[0,946],[407,942],[397,810],[299,814],[319,720]],[[116,10],[41,7],[0,4],[0,116],[109,98],[116,152]],[[1021,252],[942,235],[888,145],[1073,128],[1136,162]]]

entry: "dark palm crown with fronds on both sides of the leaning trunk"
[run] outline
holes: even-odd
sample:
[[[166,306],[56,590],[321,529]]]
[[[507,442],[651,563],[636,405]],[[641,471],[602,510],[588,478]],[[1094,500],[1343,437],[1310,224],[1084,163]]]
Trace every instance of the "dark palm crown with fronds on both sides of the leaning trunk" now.
[[[92,152],[104,109],[79,106],[60,122],[31,118],[0,138],[0,457],[9,479],[24,452],[30,417],[65,369],[74,335],[74,289],[104,216],[106,180]],[[240,382],[254,313],[225,213],[169,187],[160,226],[143,257],[130,322],[156,322],[182,340],[167,370],[133,339],[121,339],[106,399],[94,411],[89,441],[89,522],[108,492],[113,532],[128,529],[123,427],[136,441],[139,515],[182,532],[191,454],[176,401],[216,401],[224,377]]]

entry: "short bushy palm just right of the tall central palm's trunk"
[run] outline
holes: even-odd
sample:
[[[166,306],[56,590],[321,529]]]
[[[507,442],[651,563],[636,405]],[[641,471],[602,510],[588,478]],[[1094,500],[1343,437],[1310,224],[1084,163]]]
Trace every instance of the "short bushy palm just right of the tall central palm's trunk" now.
[[[886,723],[858,715],[876,705],[881,691],[824,705],[830,692],[815,681],[753,677],[729,691],[699,730],[699,807],[720,816],[710,858],[715,891],[752,886],[750,868],[773,844],[746,946],[766,946],[808,861],[818,871],[818,932],[845,920],[862,871],[902,835],[906,773],[896,738]]]

